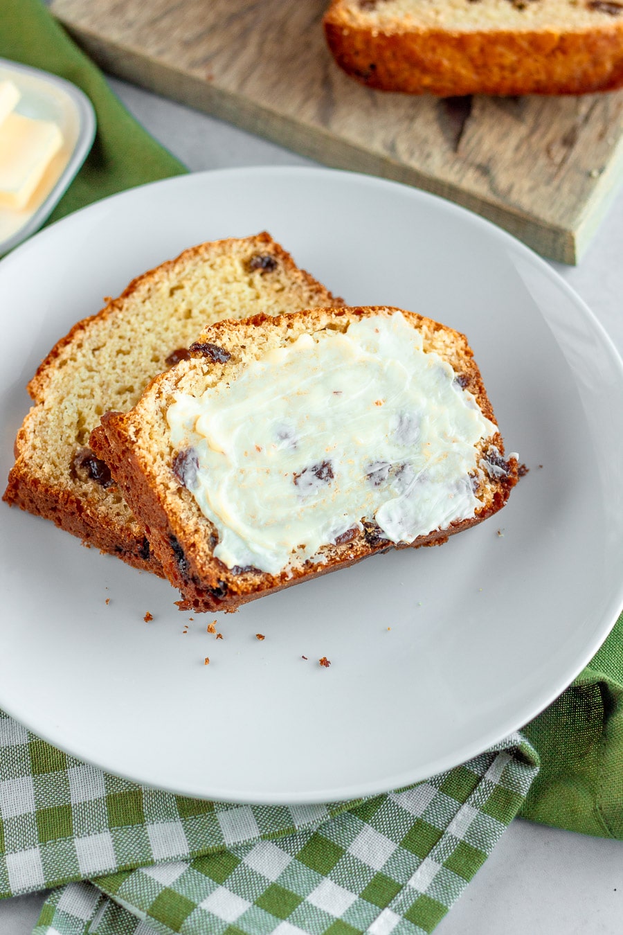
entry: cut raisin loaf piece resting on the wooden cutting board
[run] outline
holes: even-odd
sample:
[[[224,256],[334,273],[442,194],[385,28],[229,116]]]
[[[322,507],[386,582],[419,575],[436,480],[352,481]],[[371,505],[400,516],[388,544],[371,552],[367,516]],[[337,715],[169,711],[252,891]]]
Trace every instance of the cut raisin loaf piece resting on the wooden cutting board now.
[[[621,0],[333,0],[338,65],[410,94],[585,94],[623,85]]]

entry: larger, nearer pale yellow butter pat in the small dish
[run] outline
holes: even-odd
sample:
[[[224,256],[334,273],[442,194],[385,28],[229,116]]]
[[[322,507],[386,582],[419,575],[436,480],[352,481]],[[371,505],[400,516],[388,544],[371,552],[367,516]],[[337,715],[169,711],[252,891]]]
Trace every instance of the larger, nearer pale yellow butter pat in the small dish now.
[[[62,144],[56,123],[9,113],[0,124],[0,206],[25,208]]]

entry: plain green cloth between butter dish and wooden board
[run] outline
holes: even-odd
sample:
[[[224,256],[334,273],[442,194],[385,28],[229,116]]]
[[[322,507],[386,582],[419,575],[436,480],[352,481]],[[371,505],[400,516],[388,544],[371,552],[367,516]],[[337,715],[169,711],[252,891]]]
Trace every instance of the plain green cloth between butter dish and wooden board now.
[[[186,171],[128,113],[99,69],[39,0],[0,0],[0,57],[71,81],[95,109],[92,150],[48,223],[108,194]]]

